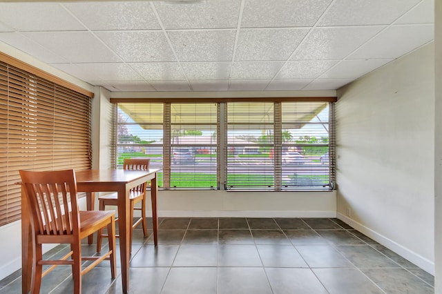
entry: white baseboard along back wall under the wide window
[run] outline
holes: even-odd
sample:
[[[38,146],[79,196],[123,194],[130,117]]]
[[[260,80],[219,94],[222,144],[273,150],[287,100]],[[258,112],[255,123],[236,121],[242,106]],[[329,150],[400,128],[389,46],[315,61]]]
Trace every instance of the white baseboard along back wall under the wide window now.
[[[147,213],[149,215],[149,213]],[[336,217],[336,210],[160,210],[159,217]]]

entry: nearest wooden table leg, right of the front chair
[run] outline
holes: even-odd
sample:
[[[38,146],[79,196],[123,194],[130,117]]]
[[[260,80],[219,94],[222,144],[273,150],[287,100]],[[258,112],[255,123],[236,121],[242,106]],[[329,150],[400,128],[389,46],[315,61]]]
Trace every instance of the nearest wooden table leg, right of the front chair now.
[[[118,228],[119,228],[119,255],[122,266],[123,293],[129,291],[129,257],[131,246],[131,212],[129,204],[129,190],[118,190]]]

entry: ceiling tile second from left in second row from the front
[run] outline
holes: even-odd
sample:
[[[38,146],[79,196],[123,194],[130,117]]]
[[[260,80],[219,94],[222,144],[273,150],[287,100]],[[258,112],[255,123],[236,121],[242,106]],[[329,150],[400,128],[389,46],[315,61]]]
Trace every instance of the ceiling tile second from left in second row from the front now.
[[[121,61],[90,32],[23,32],[26,37],[68,62]]]

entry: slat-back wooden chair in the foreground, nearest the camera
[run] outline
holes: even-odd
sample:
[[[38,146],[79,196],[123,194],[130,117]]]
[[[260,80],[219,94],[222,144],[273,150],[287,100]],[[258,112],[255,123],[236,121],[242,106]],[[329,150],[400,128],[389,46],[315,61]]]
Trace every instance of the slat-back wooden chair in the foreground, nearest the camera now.
[[[115,278],[115,210],[79,211],[74,170],[19,170],[24,195],[31,214],[35,256],[28,256],[32,266],[31,293],[39,293],[41,278],[57,265],[72,265],[74,293],[81,293],[81,276],[103,260],[111,261]],[[108,229],[109,251],[99,257],[81,257],[81,239],[101,228]],[[70,253],[57,260],[43,259],[42,244],[70,244]],[[70,259],[68,259],[70,257]],[[94,260],[84,269],[84,260]],[[46,271],[43,265],[52,264]]]

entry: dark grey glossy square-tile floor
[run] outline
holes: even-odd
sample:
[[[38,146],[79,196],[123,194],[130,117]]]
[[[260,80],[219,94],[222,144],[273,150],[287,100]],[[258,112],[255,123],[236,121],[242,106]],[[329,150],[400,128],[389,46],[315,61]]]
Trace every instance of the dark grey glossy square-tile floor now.
[[[432,275],[339,219],[164,218],[158,236],[155,248],[135,230],[131,293],[434,293]],[[70,267],[43,278],[41,293],[72,292]],[[0,293],[21,293],[20,271]],[[83,293],[122,293],[120,277],[103,262],[83,277]]]

